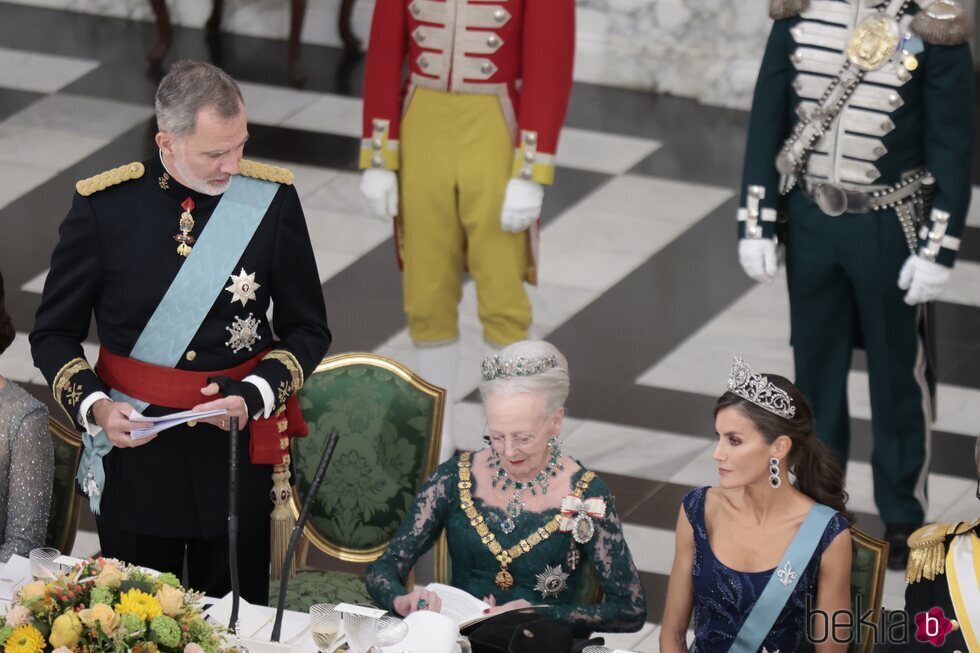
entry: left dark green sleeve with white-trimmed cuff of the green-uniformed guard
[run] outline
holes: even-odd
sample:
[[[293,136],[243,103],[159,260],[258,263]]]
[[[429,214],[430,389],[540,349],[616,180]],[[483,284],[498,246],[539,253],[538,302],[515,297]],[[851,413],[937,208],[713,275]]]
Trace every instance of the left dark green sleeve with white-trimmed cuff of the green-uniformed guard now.
[[[739,206],[743,209],[747,206],[750,186],[760,186],[764,191],[764,196],[759,200],[760,209],[775,209],[777,205],[779,173],[775,160],[790,133],[790,103],[795,75],[790,61],[792,37],[789,30],[798,21],[798,17],[777,20],[766,43],[749,116],[739,200]],[[775,221],[762,221],[759,225],[762,232],[757,237],[771,238],[775,233]],[[738,223],[738,236],[746,237],[744,221]]]

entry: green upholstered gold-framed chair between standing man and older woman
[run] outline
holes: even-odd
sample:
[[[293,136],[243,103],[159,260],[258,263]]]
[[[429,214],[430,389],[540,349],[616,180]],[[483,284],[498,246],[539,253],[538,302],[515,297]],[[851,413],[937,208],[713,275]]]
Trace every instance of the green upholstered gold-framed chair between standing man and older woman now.
[[[438,463],[444,401],[442,388],[391,359],[355,353],[323,360],[299,393],[310,434],[292,443],[298,515],[330,433],[340,434],[303,531],[310,544],[347,562],[381,556]],[[287,608],[370,603],[360,576],[304,566],[289,582]]]

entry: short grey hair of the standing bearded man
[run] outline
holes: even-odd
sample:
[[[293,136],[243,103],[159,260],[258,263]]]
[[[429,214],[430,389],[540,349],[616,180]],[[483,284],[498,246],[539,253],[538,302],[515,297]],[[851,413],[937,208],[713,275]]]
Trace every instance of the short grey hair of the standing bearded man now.
[[[157,127],[174,136],[189,136],[197,127],[201,109],[210,108],[222,118],[234,118],[244,102],[238,84],[217,66],[178,61],[157,87]]]

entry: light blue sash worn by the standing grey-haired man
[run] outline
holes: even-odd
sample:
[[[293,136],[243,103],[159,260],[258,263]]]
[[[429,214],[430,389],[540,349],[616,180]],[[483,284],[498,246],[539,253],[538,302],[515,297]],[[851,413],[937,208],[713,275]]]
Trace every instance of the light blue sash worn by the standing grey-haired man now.
[[[197,239],[190,256],[180,266],[160,304],[153,311],[130,357],[144,363],[174,367],[184,355],[194,334],[201,328],[229,274],[255,235],[279,184],[236,175]],[[231,272],[229,272],[229,270]],[[138,411],[147,402],[116,389],[113,401],[128,402]],[[87,434],[86,434],[87,435]],[[92,512],[98,514],[105,487],[102,457],[112,449],[104,431],[84,437],[78,482],[89,496]]]

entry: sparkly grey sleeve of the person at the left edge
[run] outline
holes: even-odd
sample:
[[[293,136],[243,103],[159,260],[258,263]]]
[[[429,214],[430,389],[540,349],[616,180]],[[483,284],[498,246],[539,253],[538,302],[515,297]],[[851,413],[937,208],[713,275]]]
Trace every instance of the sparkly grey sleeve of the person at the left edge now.
[[[0,561],[15,553],[26,556],[31,549],[44,546],[53,476],[48,411],[38,407],[24,415],[11,433],[7,532],[0,533]]]

